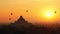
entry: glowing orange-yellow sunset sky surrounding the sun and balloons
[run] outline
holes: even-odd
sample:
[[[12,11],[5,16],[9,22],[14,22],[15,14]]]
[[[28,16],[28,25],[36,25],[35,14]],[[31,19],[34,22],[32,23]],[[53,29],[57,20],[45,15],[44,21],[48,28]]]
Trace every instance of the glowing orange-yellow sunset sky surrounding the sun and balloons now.
[[[30,22],[54,22],[60,21],[60,0],[0,0],[0,22],[15,21],[19,16],[23,16]],[[26,13],[26,10],[29,10]],[[52,18],[45,18],[47,10],[57,11]],[[13,16],[10,16],[10,12]]]

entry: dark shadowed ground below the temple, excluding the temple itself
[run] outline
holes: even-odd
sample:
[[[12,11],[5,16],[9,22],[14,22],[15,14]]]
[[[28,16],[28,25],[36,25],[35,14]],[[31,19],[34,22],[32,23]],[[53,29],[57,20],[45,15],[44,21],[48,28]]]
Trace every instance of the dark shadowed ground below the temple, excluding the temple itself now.
[[[0,34],[60,34],[60,28],[48,29],[30,25],[1,25]]]

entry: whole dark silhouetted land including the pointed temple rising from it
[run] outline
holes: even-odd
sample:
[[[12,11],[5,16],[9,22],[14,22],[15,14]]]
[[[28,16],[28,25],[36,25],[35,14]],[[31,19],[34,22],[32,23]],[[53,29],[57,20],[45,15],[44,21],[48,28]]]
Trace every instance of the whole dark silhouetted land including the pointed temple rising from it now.
[[[0,25],[0,34],[60,34],[60,27],[46,28],[26,21],[22,16],[9,25]]]

